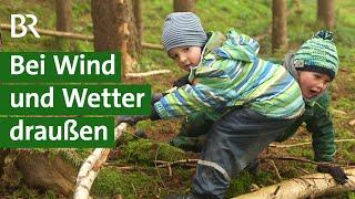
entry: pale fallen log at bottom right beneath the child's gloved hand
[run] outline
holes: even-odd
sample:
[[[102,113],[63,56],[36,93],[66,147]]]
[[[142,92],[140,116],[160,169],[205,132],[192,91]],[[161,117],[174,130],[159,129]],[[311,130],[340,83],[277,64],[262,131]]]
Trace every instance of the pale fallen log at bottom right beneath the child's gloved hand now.
[[[328,174],[314,174],[264,187],[234,199],[308,198],[329,192],[355,190],[355,169],[346,169],[345,172],[349,180],[344,186],[336,184]]]

